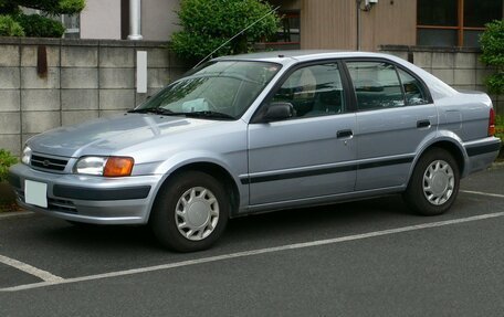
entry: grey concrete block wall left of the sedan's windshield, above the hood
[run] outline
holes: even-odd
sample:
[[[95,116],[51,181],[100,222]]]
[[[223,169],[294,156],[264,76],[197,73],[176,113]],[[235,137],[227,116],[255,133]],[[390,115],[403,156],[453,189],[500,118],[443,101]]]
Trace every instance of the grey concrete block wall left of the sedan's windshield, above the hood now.
[[[137,51],[147,52],[147,94],[136,92]],[[20,155],[33,135],[124,113],[187,68],[166,42],[0,38],[0,148]]]

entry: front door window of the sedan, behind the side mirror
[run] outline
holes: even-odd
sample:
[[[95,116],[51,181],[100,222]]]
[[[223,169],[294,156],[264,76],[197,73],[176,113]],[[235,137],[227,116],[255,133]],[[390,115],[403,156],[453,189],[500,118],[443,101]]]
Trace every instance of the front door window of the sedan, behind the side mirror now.
[[[295,118],[343,113],[344,93],[336,63],[296,70],[273,96],[272,103],[291,103]]]

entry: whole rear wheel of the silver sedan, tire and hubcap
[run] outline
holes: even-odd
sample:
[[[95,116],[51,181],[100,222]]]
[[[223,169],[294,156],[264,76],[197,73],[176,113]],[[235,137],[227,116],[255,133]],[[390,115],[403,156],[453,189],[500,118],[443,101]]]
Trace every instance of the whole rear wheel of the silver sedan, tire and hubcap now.
[[[403,198],[418,214],[442,214],[455,201],[459,183],[459,165],[453,156],[432,148],[418,160]]]

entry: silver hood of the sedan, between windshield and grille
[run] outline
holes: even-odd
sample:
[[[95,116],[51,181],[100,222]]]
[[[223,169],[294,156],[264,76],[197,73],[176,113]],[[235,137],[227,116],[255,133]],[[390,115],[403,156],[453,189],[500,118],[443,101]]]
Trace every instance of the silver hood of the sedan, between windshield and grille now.
[[[125,114],[61,127],[31,138],[34,152],[62,157],[108,156],[156,138],[175,137],[188,130],[204,129],[220,121],[150,114]]]

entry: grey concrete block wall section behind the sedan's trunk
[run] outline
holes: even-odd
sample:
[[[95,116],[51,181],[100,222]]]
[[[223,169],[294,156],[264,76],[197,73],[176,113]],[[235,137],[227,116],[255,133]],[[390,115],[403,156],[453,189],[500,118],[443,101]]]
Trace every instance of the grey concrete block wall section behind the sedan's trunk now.
[[[455,89],[487,93],[484,80],[493,70],[480,62],[477,49],[384,45],[380,51],[412,62]],[[504,96],[490,97],[496,113],[504,115]]]

